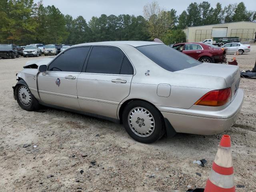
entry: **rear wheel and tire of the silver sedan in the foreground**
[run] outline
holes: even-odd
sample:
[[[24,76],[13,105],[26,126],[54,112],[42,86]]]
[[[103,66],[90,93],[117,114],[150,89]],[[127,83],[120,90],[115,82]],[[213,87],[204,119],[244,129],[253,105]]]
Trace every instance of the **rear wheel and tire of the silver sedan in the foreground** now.
[[[128,103],[124,108],[122,120],[126,132],[138,142],[153,143],[165,133],[162,114],[155,106],[144,101]]]

